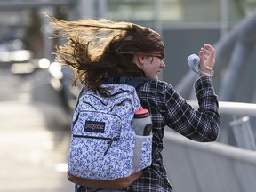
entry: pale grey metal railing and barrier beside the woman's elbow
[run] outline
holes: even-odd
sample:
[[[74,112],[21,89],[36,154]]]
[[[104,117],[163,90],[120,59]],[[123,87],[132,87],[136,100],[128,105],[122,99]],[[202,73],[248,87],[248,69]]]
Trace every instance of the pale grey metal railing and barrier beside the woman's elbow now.
[[[189,103],[196,108],[195,101]],[[199,143],[165,132],[164,165],[175,192],[255,191],[255,136],[249,119],[256,116],[256,105],[220,102],[221,114],[234,116],[229,128],[240,146]]]

